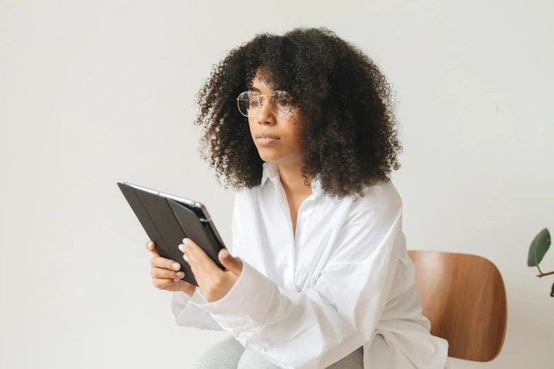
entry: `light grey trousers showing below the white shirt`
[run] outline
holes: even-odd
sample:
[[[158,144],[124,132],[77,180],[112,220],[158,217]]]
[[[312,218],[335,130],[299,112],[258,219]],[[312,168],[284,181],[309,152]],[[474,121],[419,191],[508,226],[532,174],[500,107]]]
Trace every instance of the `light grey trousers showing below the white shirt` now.
[[[246,350],[233,336],[214,344],[200,356],[194,369],[278,369],[254,351]],[[364,369],[363,347],[337,361],[328,369]]]

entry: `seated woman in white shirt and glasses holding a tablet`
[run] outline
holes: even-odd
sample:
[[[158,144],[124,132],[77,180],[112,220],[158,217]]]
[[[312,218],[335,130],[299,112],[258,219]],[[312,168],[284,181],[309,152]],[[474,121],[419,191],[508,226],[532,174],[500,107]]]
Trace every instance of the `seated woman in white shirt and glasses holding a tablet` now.
[[[147,243],[177,324],[231,334],[195,368],[444,368],[388,179],[401,146],[374,62],[325,28],[262,34],[197,101],[207,160],[238,189],[233,256],[220,252],[222,271],[183,240],[195,288]]]

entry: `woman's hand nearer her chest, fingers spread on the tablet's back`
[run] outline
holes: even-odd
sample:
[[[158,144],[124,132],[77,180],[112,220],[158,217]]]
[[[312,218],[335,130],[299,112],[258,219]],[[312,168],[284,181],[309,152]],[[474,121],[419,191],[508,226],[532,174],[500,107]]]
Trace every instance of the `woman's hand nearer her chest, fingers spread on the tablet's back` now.
[[[179,245],[183,259],[190,265],[202,295],[208,303],[213,303],[226,295],[235,285],[243,271],[241,260],[232,257],[227,250],[219,252],[219,262],[226,267],[223,271],[212,259],[189,238]]]

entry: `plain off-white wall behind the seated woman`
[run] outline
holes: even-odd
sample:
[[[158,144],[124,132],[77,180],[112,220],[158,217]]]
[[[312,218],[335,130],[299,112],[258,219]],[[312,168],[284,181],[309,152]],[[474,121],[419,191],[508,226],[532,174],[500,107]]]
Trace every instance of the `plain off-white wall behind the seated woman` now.
[[[398,91],[410,248],[504,276],[504,350],[453,368],[552,367],[554,279],[525,262],[554,230],[554,6],[436,3],[0,1],[0,367],[184,369],[226,336],[175,326],[116,182],[204,201],[230,240],[193,95],[226,50],[298,25],[357,43]]]

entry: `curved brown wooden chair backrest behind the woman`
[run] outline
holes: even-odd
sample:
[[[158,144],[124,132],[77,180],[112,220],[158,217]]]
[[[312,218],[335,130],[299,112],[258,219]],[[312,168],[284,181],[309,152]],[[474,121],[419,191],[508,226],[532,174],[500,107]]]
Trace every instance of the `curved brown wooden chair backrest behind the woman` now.
[[[507,323],[500,271],[484,257],[408,251],[415,264],[423,315],[431,334],[449,342],[449,356],[491,361],[502,349]]]

